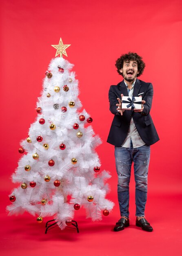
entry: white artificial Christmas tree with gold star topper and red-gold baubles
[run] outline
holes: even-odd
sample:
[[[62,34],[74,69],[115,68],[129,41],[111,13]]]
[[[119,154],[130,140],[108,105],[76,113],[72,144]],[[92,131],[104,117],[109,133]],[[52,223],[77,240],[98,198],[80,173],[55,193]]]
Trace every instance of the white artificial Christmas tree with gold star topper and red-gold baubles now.
[[[101,220],[114,204],[105,198],[109,190],[105,181],[111,176],[100,171],[95,152],[102,142],[88,126],[92,122],[89,114],[79,112],[78,80],[71,72],[73,65],[62,58],[69,45],[63,45],[60,38],[59,45],[52,46],[61,57],[51,60],[37,101],[38,116],[29,137],[20,143],[19,152],[26,154],[12,175],[20,186],[11,192],[7,210],[9,215],[28,211],[38,222],[52,216],[64,229],[81,206],[87,218]]]

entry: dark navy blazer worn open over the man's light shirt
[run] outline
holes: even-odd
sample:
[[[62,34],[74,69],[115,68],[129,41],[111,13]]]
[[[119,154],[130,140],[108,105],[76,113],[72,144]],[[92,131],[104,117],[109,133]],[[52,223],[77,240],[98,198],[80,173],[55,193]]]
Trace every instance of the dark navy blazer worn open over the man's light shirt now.
[[[118,85],[111,85],[109,89],[110,111],[114,114],[114,118],[111,124],[107,142],[114,146],[121,146],[123,144],[128,134],[131,117],[133,117],[136,129],[146,145],[152,145],[157,142],[159,137],[153,124],[151,115],[149,114],[153,98],[152,84],[136,79],[133,89],[133,97],[138,97],[141,95],[142,99],[146,101],[144,104],[144,110],[142,112],[125,110],[122,116],[118,114],[116,104],[118,103],[117,98],[121,99],[121,94],[128,96],[127,87],[124,80],[118,83]]]

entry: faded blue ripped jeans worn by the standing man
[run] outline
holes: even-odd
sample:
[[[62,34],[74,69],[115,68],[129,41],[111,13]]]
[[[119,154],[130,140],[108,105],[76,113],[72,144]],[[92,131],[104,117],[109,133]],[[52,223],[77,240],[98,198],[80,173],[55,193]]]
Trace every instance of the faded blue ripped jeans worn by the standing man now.
[[[115,163],[118,173],[118,202],[120,214],[129,218],[129,182],[131,164],[134,163],[136,216],[144,216],[147,197],[147,177],[150,146],[139,148],[115,147]]]

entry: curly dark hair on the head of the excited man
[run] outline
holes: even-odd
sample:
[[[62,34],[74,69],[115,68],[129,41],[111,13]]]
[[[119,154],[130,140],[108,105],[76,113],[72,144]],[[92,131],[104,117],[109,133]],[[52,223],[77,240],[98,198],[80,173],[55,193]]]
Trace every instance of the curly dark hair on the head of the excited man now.
[[[115,66],[117,67],[117,72],[120,75],[122,75],[122,73],[120,72],[120,69],[122,69],[124,61],[136,61],[138,64],[138,71],[139,71],[137,76],[140,76],[143,73],[144,68],[145,68],[145,63],[142,61],[142,57],[139,56],[137,53],[129,52],[127,54],[123,54],[115,62]]]

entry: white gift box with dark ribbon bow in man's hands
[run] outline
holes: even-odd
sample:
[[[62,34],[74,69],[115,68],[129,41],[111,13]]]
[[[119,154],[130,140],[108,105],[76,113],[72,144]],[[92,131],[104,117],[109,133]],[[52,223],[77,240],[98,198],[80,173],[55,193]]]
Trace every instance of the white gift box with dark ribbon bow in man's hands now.
[[[122,97],[123,110],[140,110],[142,108],[142,97]]]

